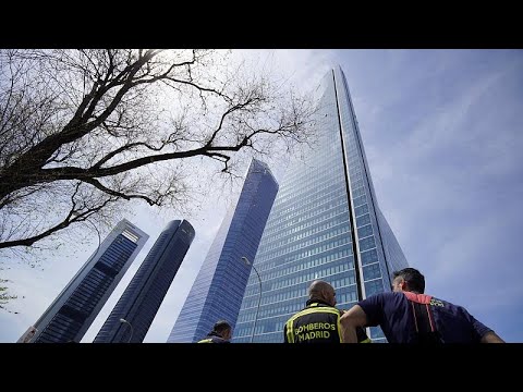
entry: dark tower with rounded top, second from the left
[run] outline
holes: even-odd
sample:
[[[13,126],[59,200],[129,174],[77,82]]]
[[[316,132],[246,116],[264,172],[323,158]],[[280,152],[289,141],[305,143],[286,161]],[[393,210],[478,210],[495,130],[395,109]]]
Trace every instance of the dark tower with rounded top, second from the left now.
[[[167,224],[93,343],[144,341],[194,234],[186,220]]]

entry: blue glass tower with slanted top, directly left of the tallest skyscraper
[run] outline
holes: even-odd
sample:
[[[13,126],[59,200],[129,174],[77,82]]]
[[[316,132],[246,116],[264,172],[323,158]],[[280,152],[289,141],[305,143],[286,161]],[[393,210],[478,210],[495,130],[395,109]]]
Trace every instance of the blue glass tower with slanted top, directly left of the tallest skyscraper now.
[[[168,343],[204,338],[220,319],[233,328],[278,183],[267,164],[253,159],[242,192],[228,210],[185,299]]]

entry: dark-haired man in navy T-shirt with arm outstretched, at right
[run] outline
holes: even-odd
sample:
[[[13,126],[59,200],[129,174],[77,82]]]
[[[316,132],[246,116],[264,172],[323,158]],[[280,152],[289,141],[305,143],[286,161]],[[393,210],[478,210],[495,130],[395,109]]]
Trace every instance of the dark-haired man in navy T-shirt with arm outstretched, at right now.
[[[341,317],[343,342],[355,343],[360,326],[380,326],[389,343],[504,343],[464,307],[424,294],[418,270],[392,275],[392,292],[370,295]]]

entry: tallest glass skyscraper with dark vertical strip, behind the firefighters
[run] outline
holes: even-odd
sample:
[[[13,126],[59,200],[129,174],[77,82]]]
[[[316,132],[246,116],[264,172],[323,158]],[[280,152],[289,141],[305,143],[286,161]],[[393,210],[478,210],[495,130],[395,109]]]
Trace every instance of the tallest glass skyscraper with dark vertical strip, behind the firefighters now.
[[[408,266],[378,208],[341,69],[329,71],[316,93],[321,139],[282,181],[254,260],[262,291],[251,273],[233,342],[283,342],[283,324],[305,307],[315,279],[332,284],[337,307],[348,309],[390,291],[392,270]],[[385,341],[379,328],[369,332]]]

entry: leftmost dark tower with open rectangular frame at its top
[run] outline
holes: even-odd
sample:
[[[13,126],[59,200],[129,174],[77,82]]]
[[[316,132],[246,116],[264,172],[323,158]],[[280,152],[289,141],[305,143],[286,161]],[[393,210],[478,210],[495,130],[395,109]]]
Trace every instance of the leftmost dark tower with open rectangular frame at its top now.
[[[148,237],[121,220],[19,343],[80,342]]]

